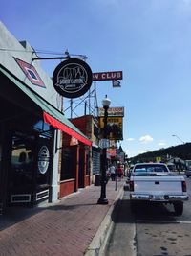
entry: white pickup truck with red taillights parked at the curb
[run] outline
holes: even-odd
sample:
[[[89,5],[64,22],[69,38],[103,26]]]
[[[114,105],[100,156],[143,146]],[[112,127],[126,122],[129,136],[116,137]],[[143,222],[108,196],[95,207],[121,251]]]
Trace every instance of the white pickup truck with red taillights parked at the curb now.
[[[174,175],[162,163],[139,163],[129,180],[130,203],[135,211],[138,201],[173,203],[176,215],[183,213],[183,201],[188,200],[186,182]]]

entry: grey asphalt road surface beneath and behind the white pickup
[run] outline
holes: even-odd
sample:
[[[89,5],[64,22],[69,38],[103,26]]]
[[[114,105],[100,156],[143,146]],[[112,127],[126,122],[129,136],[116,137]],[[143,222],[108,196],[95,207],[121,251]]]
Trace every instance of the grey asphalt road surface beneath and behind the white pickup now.
[[[185,178],[191,195],[191,178]],[[131,213],[129,191],[118,206],[115,227],[106,256],[190,256],[191,203],[184,203],[182,216],[174,214],[173,205],[138,205]]]

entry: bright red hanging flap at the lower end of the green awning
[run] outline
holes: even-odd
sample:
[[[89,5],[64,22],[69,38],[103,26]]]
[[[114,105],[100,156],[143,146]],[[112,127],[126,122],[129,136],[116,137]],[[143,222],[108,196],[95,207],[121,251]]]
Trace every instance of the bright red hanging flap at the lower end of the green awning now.
[[[67,134],[73,136],[75,139],[77,139],[80,142],[86,144],[87,146],[92,146],[92,142],[90,140],[88,140],[87,138],[83,137],[81,134],[76,132],[73,128],[69,128],[65,124],[63,124],[60,121],[56,120],[55,118],[53,118],[48,113],[43,112],[43,118],[44,118],[44,122],[45,123],[47,123],[49,125],[52,125],[54,128],[58,128],[58,129],[60,129],[60,130],[62,130],[64,132],[66,132]]]

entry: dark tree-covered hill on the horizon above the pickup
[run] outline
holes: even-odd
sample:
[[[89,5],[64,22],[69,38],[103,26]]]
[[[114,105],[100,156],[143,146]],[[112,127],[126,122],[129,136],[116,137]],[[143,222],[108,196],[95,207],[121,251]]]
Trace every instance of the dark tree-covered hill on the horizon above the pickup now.
[[[160,149],[158,151],[151,151],[138,154],[135,157],[129,158],[133,163],[155,161],[156,157],[161,157],[165,161],[168,157],[180,157],[182,160],[191,160],[191,143],[185,143],[178,146]]]

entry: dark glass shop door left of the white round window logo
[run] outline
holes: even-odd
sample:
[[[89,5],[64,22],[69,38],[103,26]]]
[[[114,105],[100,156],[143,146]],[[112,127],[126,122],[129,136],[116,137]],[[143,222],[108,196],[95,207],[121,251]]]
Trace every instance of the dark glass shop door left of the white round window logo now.
[[[14,132],[11,138],[11,168],[9,175],[10,203],[31,202],[34,189],[35,137]]]

